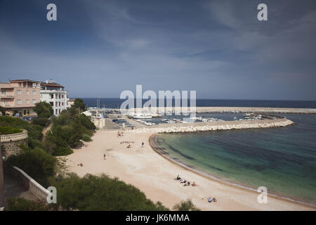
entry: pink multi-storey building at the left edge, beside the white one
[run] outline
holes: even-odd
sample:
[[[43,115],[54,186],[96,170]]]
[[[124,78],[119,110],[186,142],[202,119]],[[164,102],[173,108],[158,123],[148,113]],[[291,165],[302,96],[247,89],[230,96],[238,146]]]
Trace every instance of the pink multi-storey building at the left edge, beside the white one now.
[[[35,103],[40,101],[41,82],[29,79],[15,79],[0,83],[0,105],[6,108],[6,115],[33,116]]]

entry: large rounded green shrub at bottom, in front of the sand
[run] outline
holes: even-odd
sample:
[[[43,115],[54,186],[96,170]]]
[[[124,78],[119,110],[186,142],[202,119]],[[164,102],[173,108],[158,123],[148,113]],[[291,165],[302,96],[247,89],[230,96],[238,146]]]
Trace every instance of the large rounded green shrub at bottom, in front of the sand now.
[[[70,174],[54,179],[51,186],[57,188],[57,203],[66,210],[169,210],[162,203],[153,203],[135,186],[105,174],[83,178]]]

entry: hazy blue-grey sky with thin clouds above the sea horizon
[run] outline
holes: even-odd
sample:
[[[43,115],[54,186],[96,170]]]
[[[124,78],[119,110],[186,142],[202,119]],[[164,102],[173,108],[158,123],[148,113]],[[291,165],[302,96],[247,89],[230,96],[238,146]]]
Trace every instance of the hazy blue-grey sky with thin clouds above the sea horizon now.
[[[142,84],[315,101],[315,40],[315,0],[0,0],[0,82],[54,79],[70,97],[119,98]]]

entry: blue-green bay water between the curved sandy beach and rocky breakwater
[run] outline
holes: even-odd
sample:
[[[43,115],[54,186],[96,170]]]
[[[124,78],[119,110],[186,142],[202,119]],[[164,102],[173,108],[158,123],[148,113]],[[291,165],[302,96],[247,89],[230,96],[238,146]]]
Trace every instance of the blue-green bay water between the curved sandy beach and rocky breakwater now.
[[[272,129],[159,134],[171,158],[251,188],[316,205],[316,115]]]

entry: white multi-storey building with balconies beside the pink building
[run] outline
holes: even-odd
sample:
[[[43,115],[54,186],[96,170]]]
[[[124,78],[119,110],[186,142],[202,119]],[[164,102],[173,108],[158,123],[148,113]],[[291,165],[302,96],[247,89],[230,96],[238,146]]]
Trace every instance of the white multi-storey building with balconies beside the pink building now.
[[[41,101],[50,103],[53,107],[54,115],[58,116],[62,110],[67,108],[67,91],[64,86],[56,84],[55,81],[48,79],[41,82]]]

